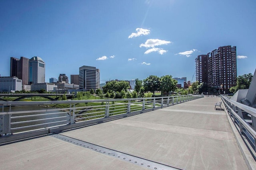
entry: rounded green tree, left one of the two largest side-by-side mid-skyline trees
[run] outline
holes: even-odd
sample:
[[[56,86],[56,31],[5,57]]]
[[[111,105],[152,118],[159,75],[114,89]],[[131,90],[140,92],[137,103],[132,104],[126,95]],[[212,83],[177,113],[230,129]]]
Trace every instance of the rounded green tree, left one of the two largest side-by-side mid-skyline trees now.
[[[143,80],[143,87],[146,92],[152,92],[155,96],[155,92],[160,89],[161,80],[158,76],[149,76]]]

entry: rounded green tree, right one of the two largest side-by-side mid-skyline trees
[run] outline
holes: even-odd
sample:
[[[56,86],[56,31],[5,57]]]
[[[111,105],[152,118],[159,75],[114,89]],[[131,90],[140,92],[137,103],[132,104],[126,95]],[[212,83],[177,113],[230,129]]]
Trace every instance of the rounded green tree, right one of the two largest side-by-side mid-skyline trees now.
[[[174,92],[177,89],[177,81],[172,78],[171,75],[166,75],[161,77],[161,86],[160,90],[162,92]]]

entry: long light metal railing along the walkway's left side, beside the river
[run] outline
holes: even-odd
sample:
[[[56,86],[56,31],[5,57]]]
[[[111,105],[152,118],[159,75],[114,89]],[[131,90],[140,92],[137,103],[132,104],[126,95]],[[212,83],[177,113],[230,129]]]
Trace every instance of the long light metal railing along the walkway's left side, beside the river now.
[[[0,136],[38,129],[48,129],[49,133],[62,131],[202,97],[203,95],[186,95],[107,100],[0,102]]]

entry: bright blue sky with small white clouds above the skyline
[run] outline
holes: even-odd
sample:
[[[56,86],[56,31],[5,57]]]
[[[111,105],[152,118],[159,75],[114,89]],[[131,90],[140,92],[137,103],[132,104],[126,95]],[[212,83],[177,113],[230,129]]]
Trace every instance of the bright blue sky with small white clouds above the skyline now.
[[[10,76],[10,57],[38,56],[46,82],[83,65],[101,82],[191,80],[194,59],[225,45],[237,48],[238,75],[253,74],[255,9],[255,0],[2,0],[0,74]]]

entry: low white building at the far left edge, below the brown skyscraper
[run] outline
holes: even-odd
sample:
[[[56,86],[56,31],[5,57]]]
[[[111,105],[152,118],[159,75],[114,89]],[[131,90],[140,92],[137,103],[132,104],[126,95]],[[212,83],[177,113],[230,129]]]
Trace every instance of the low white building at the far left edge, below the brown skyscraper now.
[[[22,80],[16,76],[0,77],[0,92],[15,92],[22,90]]]

